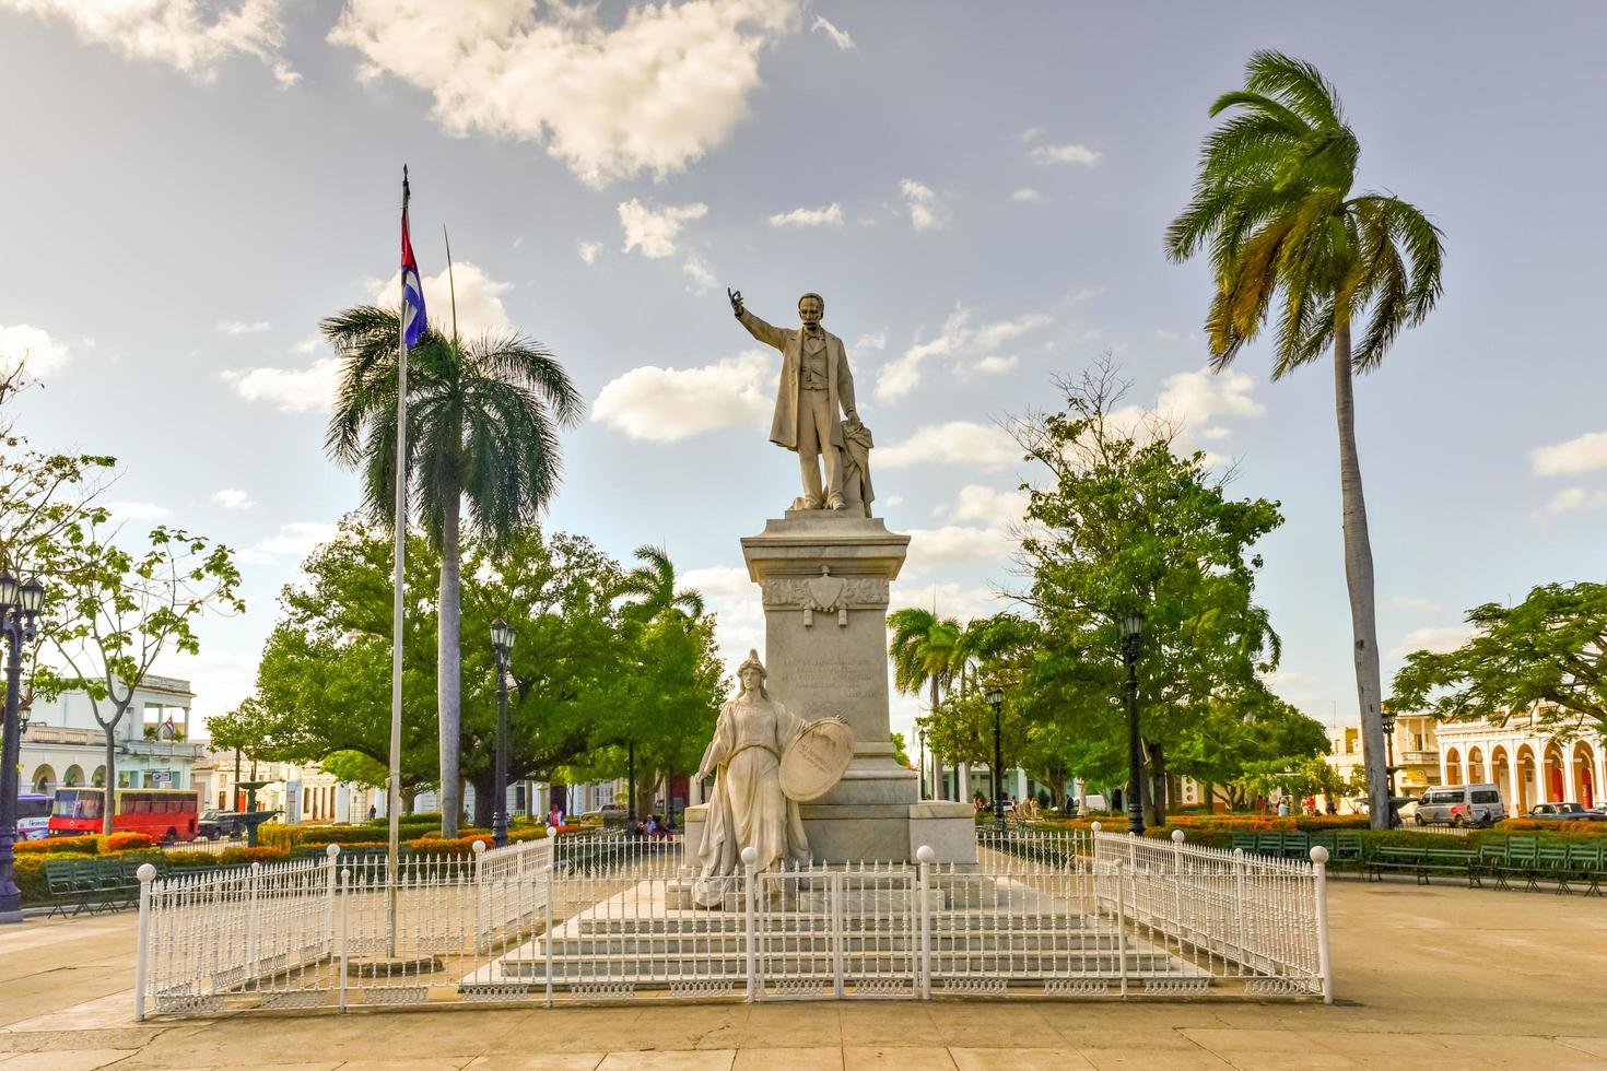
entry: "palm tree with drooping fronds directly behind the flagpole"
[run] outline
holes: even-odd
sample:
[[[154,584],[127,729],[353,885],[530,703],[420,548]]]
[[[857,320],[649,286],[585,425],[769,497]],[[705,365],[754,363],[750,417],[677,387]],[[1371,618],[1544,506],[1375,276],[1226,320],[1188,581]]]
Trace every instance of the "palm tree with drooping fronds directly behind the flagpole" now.
[[[360,305],[320,328],[344,363],[325,446],[362,469],[368,512],[391,522],[395,504],[397,312]],[[468,523],[492,543],[534,523],[558,490],[558,429],[580,421],[585,400],[538,342],[487,334],[464,342],[434,331],[408,352],[410,501],[440,551],[437,715],[442,835],[458,830],[460,560]]]

